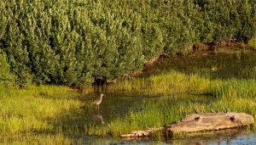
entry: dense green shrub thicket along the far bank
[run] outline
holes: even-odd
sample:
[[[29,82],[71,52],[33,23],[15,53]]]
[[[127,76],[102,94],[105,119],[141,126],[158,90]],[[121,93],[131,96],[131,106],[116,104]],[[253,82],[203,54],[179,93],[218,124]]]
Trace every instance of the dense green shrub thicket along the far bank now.
[[[247,42],[255,9],[248,0],[3,0],[0,48],[20,86],[84,86],[195,42]]]

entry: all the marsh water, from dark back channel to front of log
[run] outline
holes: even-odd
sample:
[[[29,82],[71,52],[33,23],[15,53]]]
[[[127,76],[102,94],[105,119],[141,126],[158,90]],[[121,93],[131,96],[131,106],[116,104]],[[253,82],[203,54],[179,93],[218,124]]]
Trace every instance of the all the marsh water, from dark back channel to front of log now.
[[[143,75],[157,74],[162,71],[177,70],[183,73],[201,73],[210,75],[215,79],[255,79],[256,78],[256,53],[219,53],[191,55],[169,59],[160,59],[154,66],[145,68]],[[214,98],[209,96],[158,94],[148,96],[142,93],[108,93],[103,92],[100,109],[96,109],[91,102],[99,97],[99,92],[89,96],[79,97],[84,103],[89,105],[70,114],[61,115],[63,126],[67,127],[67,136],[73,137],[77,143],[82,144],[256,144],[253,131],[245,129],[232,130],[230,133],[215,135],[210,137],[190,137],[179,140],[167,140],[165,142],[154,140],[133,140],[127,141],[112,137],[91,137],[86,135],[86,131],[78,131],[84,126],[108,125],[128,114],[129,111],[143,110],[146,105],[162,103],[172,105],[175,103],[212,103]],[[163,113],[164,114],[164,113]],[[73,131],[71,128],[77,128]],[[85,127],[86,128],[86,127]],[[83,132],[83,133],[81,133]]]

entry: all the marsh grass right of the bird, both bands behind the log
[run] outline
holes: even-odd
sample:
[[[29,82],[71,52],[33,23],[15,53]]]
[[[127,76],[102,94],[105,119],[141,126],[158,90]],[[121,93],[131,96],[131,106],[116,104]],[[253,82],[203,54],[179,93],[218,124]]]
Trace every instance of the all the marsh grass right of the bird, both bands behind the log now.
[[[256,81],[254,79],[211,79],[208,74],[186,75],[177,71],[165,72],[160,75],[133,78],[118,82],[110,87],[113,92],[144,92],[146,94],[194,94],[207,95],[207,102],[187,101],[182,98],[169,101],[158,101],[143,105],[143,110],[132,110],[125,116],[113,120],[109,125],[96,127],[95,135],[106,136],[111,134],[118,137],[131,131],[145,130],[148,127],[160,127],[176,122],[186,114],[194,112],[193,108],[201,112],[210,112],[210,109],[230,108],[232,112],[245,112],[256,117]],[[93,127],[92,127],[93,128]],[[255,126],[253,127],[255,129]],[[94,129],[90,129],[94,130]],[[89,132],[90,132],[89,131]],[[91,133],[90,134],[94,134]],[[156,138],[161,138],[155,135]],[[180,135],[177,135],[180,137]]]

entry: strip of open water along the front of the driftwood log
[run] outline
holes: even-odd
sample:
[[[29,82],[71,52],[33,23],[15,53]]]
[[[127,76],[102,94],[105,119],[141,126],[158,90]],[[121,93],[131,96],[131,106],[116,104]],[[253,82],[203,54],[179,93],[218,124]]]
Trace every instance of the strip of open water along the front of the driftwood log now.
[[[234,131],[234,130],[233,130]],[[218,131],[217,131],[218,132]],[[232,131],[230,131],[232,132]],[[235,131],[232,134],[222,134],[221,136],[213,135],[209,137],[190,137],[180,140],[170,140],[166,142],[154,141],[150,139],[141,140],[121,140],[119,138],[90,138],[88,144],[139,144],[139,145],[253,145],[256,144],[255,134],[253,132],[247,134],[247,130]],[[240,132],[240,133],[239,133]],[[224,133],[224,132],[223,132]]]

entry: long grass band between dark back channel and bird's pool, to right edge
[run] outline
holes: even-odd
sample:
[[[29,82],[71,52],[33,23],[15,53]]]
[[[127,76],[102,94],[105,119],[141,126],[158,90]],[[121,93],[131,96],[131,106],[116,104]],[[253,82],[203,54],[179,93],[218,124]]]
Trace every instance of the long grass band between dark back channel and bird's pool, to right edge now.
[[[207,94],[214,97],[230,96],[247,98],[256,96],[256,81],[254,79],[211,79],[208,74],[186,75],[174,70],[163,72],[160,75],[126,79],[108,88],[113,92],[145,92],[148,94],[189,93]]]

